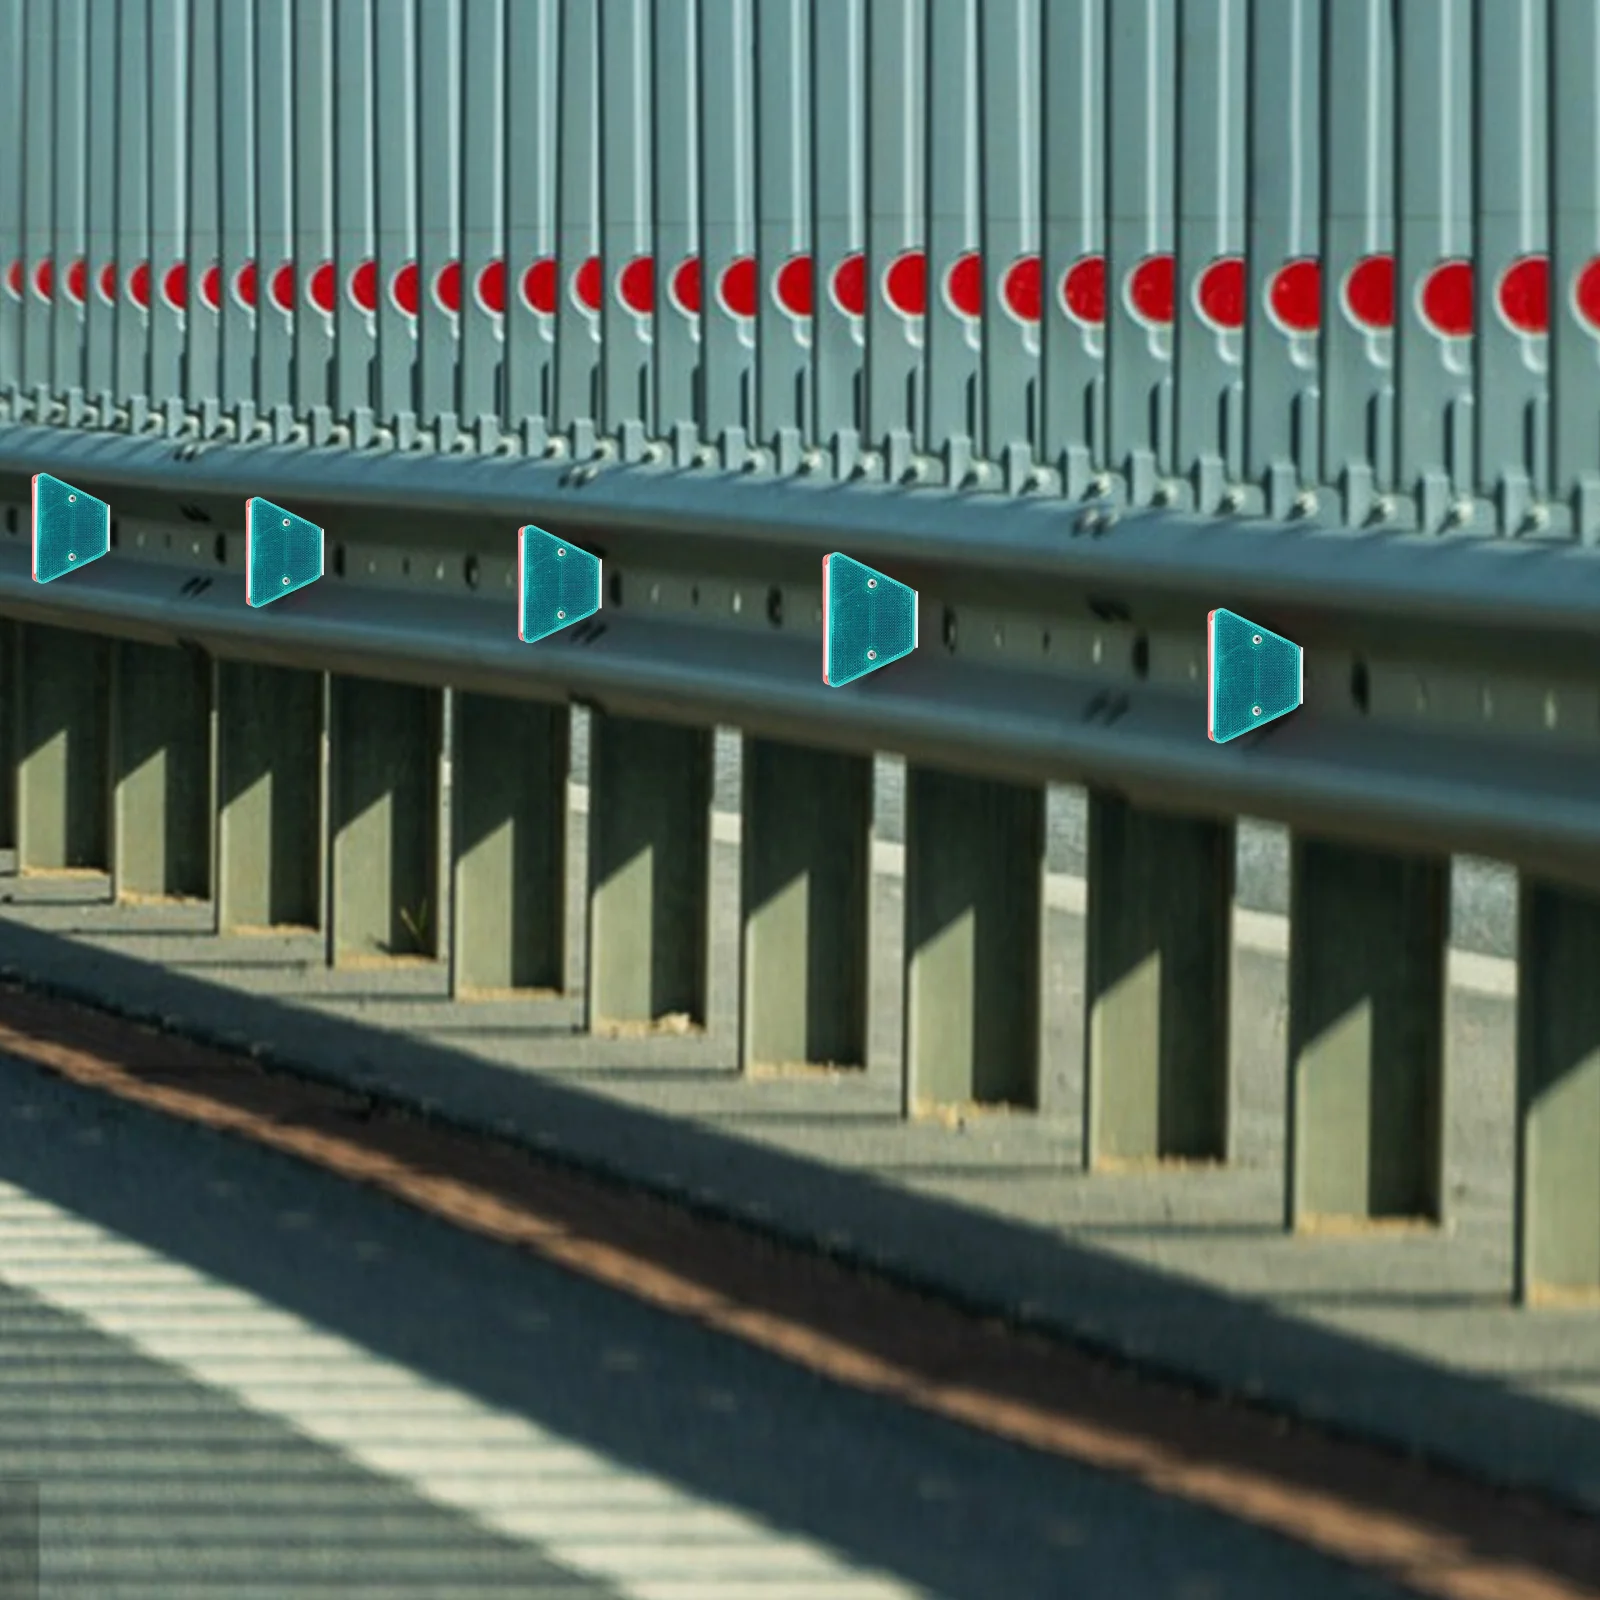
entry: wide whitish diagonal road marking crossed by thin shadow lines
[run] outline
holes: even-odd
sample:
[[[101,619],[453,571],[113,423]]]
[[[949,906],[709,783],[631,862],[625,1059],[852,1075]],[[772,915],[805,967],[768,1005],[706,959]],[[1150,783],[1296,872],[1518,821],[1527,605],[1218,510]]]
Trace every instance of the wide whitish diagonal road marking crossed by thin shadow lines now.
[[[709,1504],[0,1184],[0,1280],[629,1600],[926,1590]]]

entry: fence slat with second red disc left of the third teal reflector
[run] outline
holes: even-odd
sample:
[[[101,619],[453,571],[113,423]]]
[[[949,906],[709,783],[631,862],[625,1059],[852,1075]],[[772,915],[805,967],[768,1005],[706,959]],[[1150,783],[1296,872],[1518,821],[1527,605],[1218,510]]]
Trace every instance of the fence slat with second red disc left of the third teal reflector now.
[[[418,6],[418,410],[440,450],[461,416],[461,5]],[[446,272],[451,277],[446,278]],[[453,285],[453,286],[451,286]]]

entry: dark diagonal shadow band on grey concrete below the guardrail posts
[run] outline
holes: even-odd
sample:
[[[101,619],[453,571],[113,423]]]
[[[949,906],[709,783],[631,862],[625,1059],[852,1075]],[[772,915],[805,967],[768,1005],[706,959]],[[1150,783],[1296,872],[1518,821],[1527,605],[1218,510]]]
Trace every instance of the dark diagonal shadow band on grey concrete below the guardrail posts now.
[[[1600,1509],[1600,1416],[1493,1378],[1446,1370],[1040,1227],[624,1106],[565,1075],[557,1082],[224,990],[18,923],[0,922],[0,973],[510,1138],[1197,1387]],[[1571,1368],[1571,1355],[1558,1365]],[[1522,1376],[1538,1381],[1539,1373]]]

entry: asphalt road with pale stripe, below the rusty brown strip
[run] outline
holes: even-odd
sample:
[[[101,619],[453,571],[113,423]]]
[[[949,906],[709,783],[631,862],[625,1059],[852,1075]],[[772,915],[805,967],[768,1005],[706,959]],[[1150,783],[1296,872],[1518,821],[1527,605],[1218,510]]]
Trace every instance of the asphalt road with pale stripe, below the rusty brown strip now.
[[[14,1058],[0,1480],[42,1600],[1398,1594]]]

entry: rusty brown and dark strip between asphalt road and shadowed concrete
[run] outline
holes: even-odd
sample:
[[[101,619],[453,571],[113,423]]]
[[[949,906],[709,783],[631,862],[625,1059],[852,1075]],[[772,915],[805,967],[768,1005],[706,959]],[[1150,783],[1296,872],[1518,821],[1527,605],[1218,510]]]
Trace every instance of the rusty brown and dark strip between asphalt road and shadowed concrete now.
[[[1432,1600],[1600,1600],[1600,1526],[1206,1400],[360,1096],[0,989],[0,1050],[238,1134],[859,1390],[1267,1528]]]

